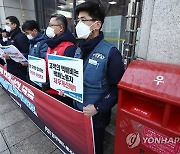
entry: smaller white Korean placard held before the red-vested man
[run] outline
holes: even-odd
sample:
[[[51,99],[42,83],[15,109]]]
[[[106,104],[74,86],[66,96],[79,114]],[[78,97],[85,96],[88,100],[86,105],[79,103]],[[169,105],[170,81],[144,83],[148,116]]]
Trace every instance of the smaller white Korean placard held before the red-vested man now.
[[[28,56],[30,80],[41,86],[46,82],[46,62],[42,58]]]

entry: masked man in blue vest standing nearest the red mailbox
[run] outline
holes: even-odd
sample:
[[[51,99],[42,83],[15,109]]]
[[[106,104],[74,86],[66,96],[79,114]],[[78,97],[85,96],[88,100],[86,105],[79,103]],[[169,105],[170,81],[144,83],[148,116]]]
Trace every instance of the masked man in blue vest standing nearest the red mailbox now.
[[[83,59],[83,103],[74,101],[74,107],[92,117],[96,154],[103,154],[105,127],[110,122],[111,108],[117,103],[117,84],[124,73],[121,53],[104,40],[100,31],[105,11],[93,1],[76,7],[78,38],[83,39],[75,57]]]

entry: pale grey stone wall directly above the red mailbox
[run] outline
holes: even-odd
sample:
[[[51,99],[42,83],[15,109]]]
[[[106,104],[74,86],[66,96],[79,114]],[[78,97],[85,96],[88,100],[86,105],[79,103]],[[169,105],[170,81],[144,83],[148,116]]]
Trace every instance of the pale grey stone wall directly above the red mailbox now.
[[[180,1],[144,0],[138,57],[180,64]]]

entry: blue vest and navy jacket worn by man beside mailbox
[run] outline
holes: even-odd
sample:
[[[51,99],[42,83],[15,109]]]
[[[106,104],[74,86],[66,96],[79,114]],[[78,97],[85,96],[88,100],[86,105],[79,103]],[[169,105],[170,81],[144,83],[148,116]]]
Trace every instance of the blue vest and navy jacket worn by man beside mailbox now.
[[[84,102],[83,105],[76,102],[75,108],[82,110],[83,106],[94,104],[98,111],[93,116],[94,127],[109,124],[111,108],[117,103],[117,84],[124,73],[121,53],[103,39],[101,32],[99,36],[79,45],[80,57],[84,62]]]

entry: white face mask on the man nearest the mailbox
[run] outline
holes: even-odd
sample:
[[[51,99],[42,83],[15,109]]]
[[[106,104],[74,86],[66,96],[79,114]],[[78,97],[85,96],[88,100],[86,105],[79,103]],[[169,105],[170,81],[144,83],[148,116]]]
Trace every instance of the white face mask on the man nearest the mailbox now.
[[[94,25],[95,23],[93,23],[92,25]],[[90,30],[91,26],[87,26],[83,22],[79,22],[76,26],[76,34],[78,38],[87,39],[92,31]]]

